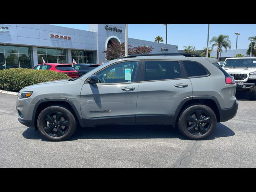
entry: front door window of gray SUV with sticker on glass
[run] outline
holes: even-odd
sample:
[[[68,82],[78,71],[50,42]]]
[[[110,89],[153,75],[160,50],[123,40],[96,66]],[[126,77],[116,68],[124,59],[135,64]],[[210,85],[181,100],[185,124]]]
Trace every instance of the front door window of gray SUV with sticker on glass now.
[[[114,64],[98,73],[100,83],[134,82],[138,68],[138,61],[129,61]]]

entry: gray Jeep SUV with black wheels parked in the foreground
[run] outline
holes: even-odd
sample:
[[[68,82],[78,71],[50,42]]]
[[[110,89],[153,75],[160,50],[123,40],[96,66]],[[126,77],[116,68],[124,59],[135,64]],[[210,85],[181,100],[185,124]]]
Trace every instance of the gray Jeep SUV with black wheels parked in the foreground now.
[[[25,87],[16,108],[21,124],[51,141],[66,140],[77,124],[165,124],[202,140],[236,115],[235,92],[234,77],[214,58],[136,54],[80,78]]]

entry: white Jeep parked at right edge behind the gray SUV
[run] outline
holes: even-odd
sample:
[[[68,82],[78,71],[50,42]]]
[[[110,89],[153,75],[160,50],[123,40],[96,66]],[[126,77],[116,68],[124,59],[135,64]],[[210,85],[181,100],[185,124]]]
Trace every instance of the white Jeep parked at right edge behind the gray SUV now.
[[[235,78],[238,91],[248,91],[256,100],[256,57],[226,58],[223,69]]]

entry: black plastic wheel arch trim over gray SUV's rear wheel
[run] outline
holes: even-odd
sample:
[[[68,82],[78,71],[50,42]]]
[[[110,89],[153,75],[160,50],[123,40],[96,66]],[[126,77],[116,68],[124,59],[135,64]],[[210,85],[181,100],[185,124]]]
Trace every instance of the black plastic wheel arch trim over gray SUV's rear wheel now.
[[[193,96],[193,97],[187,97],[182,102],[180,102],[178,108],[176,109],[175,115],[173,117],[173,122],[177,122],[180,114],[189,106],[192,106],[194,104],[204,104],[214,111],[217,122],[220,122],[220,112],[219,109],[220,104],[218,100],[213,96]]]

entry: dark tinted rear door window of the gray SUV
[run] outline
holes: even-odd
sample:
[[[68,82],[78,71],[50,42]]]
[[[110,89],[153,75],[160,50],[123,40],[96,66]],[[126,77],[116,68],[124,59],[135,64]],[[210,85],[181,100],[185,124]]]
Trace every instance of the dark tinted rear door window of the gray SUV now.
[[[145,81],[177,79],[181,77],[178,61],[145,61]]]

